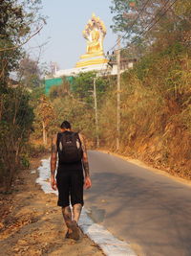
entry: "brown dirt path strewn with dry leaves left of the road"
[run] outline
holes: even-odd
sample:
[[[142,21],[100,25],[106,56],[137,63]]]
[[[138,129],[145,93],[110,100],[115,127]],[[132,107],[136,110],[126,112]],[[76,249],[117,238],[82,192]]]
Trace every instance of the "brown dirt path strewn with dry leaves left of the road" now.
[[[53,194],[35,184],[40,159],[22,171],[11,195],[0,194],[0,255],[103,256],[84,235],[79,242],[64,239],[66,226]]]

